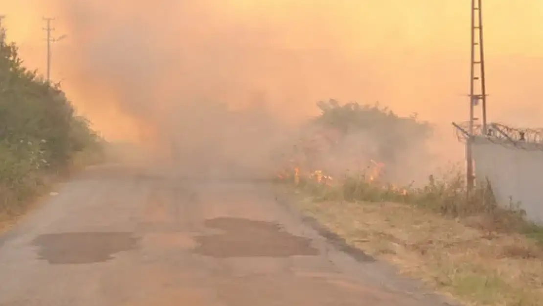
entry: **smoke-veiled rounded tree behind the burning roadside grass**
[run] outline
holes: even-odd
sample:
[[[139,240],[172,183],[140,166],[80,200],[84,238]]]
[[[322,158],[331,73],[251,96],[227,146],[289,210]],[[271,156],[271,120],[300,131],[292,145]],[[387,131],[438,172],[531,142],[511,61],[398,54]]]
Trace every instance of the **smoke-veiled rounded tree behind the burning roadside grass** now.
[[[342,105],[330,99],[318,102],[317,107],[321,114],[305,127],[313,131],[313,136],[305,140],[305,155],[327,164],[321,167],[346,170],[376,160],[390,170],[401,163],[406,152],[424,149],[433,132],[429,123],[419,121],[416,116],[401,117],[378,103]],[[315,167],[314,164],[310,167]]]

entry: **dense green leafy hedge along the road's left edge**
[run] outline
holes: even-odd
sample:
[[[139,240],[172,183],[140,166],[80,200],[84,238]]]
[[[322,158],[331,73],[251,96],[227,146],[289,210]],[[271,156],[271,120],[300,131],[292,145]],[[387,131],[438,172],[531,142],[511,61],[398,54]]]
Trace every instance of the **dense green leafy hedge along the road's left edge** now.
[[[0,212],[34,195],[100,138],[59,85],[23,66],[15,43],[0,43]]]

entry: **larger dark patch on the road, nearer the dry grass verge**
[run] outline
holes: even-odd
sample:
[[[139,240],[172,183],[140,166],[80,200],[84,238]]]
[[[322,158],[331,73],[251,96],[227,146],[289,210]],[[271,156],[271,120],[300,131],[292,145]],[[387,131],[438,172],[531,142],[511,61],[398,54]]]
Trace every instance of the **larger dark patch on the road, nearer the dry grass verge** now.
[[[198,236],[194,253],[216,258],[315,256],[311,240],[285,232],[278,224],[243,218],[213,218],[206,227],[224,230],[223,234]]]

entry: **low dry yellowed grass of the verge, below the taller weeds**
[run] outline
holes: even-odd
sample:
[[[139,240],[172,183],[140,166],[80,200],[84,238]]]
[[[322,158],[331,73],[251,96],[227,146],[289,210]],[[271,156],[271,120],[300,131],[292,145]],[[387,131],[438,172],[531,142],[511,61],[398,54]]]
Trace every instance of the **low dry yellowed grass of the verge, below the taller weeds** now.
[[[459,301],[543,305],[543,230],[516,214],[497,209],[451,213],[443,203],[436,209],[424,201],[384,202],[380,198],[387,195],[373,193],[370,201],[344,201],[333,190],[336,196],[324,198],[321,192],[311,196],[307,188],[298,191],[305,196],[295,202],[305,214]]]

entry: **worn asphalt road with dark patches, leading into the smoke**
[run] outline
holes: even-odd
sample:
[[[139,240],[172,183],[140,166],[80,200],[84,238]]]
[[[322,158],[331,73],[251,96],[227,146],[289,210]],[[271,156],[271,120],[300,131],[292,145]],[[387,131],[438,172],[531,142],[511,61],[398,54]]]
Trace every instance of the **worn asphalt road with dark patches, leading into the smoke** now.
[[[446,305],[266,183],[141,174],[87,171],[0,236],[0,305]]]

